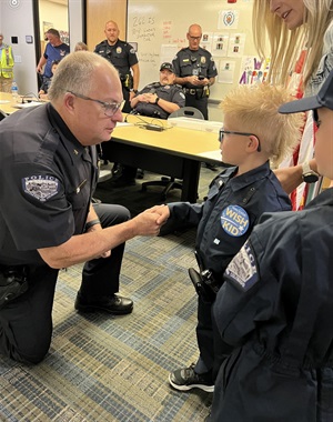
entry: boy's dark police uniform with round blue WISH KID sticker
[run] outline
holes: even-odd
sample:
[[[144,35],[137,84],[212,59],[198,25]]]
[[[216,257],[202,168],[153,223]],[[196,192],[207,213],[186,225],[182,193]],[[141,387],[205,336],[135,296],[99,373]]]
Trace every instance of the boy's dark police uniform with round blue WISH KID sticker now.
[[[215,281],[221,280],[226,265],[263,212],[291,210],[289,197],[270,170],[269,162],[234,177],[236,171],[238,168],[231,167],[218,175],[203,204],[168,204],[172,219],[198,224],[195,251],[200,270],[209,270]],[[221,363],[220,353],[214,352],[213,300],[208,302],[199,295],[196,336],[200,358],[194,368],[195,373],[208,375],[212,384],[214,371]],[[172,374],[170,376],[172,382]]]

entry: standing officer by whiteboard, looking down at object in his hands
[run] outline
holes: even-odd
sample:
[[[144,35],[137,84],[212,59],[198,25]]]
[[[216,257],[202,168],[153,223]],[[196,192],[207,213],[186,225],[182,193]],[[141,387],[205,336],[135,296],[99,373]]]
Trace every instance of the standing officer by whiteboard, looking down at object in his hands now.
[[[210,87],[215,82],[218,71],[212,54],[199,46],[201,37],[201,27],[191,24],[186,33],[189,47],[176,53],[172,64],[175,83],[183,87],[186,96],[186,107],[195,107],[208,120]]]

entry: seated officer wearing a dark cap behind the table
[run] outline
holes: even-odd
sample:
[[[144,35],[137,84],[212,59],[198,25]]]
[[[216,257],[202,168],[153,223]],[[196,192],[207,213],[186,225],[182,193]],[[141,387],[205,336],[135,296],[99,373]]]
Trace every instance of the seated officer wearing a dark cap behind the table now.
[[[132,100],[132,113],[168,119],[173,112],[185,105],[185,96],[180,86],[174,84],[174,70],[164,62],[160,68],[160,82],[143,88]]]

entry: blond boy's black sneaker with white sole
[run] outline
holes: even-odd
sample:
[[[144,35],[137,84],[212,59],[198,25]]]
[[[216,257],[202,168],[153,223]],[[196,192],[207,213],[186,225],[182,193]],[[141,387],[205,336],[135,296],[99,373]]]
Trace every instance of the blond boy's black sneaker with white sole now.
[[[198,374],[194,371],[194,363],[190,368],[182,368],[169,374],[170,385],[179,391],[189,391],[191,389],[200,389],[212,393],[214,383],[210,375]]]

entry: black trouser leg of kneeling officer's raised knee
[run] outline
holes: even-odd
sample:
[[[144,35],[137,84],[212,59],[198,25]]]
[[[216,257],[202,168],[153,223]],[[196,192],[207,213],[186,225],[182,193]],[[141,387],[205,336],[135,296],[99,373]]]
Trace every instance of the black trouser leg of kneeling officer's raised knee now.
[[[94,204],[103,228],[120,224],[130,219],[130,211],[121,205]],[[112,295],[119,291],[124,243],[112,249],[109,258],[99,258],[85,262],[82,271],[80,292],[85,298]]]

